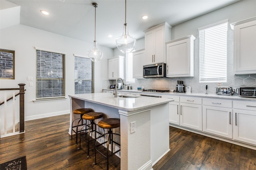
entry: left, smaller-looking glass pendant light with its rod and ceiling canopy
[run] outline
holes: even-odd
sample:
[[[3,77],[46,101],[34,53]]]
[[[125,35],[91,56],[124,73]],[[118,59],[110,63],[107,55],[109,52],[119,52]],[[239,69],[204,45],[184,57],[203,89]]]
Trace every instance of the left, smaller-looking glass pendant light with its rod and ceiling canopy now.
[[[96,41],[96,7],[98,7],[97,3],[92,3],[92,6],[95,8],[95,20],[94,20],[94,41],[93,41],[93,49],[87,52],[88,57],[94,61],[100,61],[103,56],[103,52],[98,50],[97,41]]]

